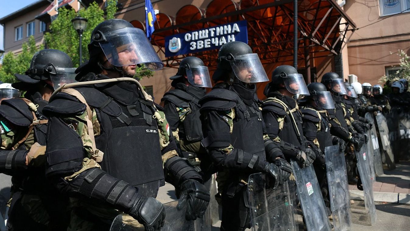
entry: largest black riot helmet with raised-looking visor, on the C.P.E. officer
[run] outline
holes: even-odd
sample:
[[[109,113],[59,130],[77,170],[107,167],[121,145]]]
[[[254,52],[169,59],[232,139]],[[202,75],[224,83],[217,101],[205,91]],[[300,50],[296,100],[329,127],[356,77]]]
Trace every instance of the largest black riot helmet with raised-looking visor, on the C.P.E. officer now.
[[[106,69],[123,74],[117,67],[145,64],[149,70],[157,71],[164,66],[145,32],[123,19],[109,19],[98,24],[91,33],[88,52],[89,61],[78,67],[76,73]],[[107,61],[101,60],[103,55]],[[105,62],[114,67],[105,67]]]

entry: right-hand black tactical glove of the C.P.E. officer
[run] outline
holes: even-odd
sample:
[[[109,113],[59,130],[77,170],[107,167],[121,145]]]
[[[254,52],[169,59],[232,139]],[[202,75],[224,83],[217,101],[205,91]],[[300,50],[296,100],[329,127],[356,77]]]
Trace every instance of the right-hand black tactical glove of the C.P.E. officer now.
[[[203,217],[211,199],[210,192],[205,185],[195,180],[188,180],[182,184],[181,191],[182,195],[185,194],[188,197],[185,219],[196,220],[198,217]]]

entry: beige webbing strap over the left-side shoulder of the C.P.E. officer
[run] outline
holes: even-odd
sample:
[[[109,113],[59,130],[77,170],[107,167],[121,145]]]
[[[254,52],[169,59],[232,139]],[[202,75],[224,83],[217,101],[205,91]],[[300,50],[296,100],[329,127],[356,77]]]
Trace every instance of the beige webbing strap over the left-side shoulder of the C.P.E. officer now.
[[[93,150],[91,151],[91,156],[96,162],[103,161],[104,153],[96,148],[96,140],[94,137],[93,122],[92,122],[93,111],[91,110],[84,96],[82,96],[82,94],[79,91],[73,88],[62,89],[61,91],[67,94],[70,94],[72,96],[75,96],[75,98],[77,98],[81,103],[85,104],[87,108],[87,117],[85,118],[85,120],[87,121],[88,135],[90,136],[90,140],[91,140],[92,148],[93,148]]]

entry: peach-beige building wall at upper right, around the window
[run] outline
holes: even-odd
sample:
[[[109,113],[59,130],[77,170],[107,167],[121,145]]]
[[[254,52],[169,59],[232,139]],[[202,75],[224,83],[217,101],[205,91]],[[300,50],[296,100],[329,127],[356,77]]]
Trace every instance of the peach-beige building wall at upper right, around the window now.
[[[344,9],[359,28],[347,45],[349,73],[361,83],[378,84],[386,67],[399,64],[397,51],[410,48],[410,13],[380,17],[378,0],[348,0]]]

